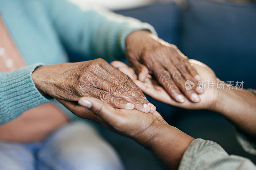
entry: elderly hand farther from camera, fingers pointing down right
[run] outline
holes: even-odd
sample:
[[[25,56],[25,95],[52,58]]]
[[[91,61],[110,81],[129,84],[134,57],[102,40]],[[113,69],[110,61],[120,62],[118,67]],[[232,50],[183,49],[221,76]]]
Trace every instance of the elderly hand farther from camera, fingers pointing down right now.
[[[198,94],[204,90],[185,89],[185,81],[195,85],[200,80],[199,74],[188,57],[180,50],[146,30],[134,31],[127,36],[126,57],[140,81],[147,77],[148,70],[156,77],[167,93],[177,102],[185,102],[183,94],[192,102],[200,102]]]

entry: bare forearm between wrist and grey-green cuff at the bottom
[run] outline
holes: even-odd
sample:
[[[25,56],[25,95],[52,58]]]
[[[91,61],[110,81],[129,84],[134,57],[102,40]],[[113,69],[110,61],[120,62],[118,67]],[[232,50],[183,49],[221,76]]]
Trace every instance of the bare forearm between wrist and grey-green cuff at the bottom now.
[[[148,132],[152,138],[144,144],[166,169],[178,169],[188,145],[195,139],[169,124],[158,125]]]

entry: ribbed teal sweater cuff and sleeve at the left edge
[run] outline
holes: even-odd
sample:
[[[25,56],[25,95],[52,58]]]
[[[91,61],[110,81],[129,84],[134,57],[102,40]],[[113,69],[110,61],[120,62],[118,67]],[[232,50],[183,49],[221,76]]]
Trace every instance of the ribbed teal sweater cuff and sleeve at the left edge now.
[[[12,72],[0,72],[0,125],[23,112],[52,99],[41,95],[32,80],[32,72],[42,64],[33,64]]]

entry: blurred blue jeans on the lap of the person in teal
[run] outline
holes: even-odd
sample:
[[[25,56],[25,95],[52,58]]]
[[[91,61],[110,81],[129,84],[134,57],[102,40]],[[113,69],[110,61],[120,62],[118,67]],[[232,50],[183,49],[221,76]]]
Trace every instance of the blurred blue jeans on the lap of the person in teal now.
[[[69,123],[42,142],[0,141],[1,170],[121,170],[114,149],[84,122]]]

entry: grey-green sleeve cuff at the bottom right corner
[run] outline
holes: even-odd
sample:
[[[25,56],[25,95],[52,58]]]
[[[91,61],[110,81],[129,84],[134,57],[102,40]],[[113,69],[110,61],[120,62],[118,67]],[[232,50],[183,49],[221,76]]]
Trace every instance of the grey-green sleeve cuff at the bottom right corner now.
[[[195,139],[180,161],[179,170],[256,170],[250,159],[228,153],[210,140]]]

